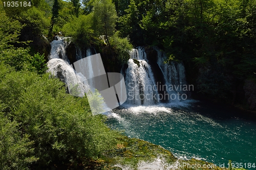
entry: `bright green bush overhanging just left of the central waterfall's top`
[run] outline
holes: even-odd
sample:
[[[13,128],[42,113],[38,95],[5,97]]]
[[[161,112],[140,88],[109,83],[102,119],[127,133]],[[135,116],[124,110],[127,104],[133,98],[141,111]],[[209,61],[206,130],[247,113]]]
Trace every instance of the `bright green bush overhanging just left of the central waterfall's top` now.
[[[110,43],[117,55],[119,63],[125,63],[130,59],[130,51],[132,50],[133,45],[129,42],[128,38],[120,38],[118,34],[119,32],[116,32],[110,37]]]

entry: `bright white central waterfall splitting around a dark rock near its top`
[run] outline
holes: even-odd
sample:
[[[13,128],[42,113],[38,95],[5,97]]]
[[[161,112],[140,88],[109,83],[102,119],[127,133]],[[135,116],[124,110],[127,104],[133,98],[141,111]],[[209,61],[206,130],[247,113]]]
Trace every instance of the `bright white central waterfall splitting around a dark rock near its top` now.
[[[131,51],[125,75],[128,104],[148,106],[159,102],[154,75],[143,48]]]

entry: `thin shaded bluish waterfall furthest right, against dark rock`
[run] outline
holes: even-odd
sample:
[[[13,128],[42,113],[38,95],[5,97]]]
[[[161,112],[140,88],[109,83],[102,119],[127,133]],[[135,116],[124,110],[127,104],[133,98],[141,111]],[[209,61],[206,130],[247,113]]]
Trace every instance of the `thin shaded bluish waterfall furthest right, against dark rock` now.
[[[183,88],[186,87],[185,68],[182,62],[171,62],[170,64],[164,63],[166,56],[158,48],[157,51],[157,64],[159,65],[162,74],[164,75],[166,91],[169,94],[169,102],[181,102],[182,94],[187,91]],[[185,95],[186,96],[186,95]],[[183,100],[182,100],[183,99]]]

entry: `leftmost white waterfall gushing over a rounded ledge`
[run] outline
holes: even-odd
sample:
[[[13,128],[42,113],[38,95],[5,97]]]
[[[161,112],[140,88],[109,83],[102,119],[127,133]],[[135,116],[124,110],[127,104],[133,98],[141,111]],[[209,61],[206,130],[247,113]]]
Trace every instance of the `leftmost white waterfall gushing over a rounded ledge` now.
[[[84,96],[84,93],[89,91],[90,86],[86,77],[77,73],[70,65],[66,55],[67,37],[56,36],[56,38],[57,40],[51,42],[52,49],[49,56],[48,72],[65,82],[69,93],[75,96]]]

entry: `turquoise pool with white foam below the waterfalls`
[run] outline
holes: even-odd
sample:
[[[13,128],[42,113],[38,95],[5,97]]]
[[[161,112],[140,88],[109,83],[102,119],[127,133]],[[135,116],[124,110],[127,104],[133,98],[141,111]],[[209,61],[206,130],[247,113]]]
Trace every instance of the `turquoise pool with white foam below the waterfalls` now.
[[[107,124],[161,145],[177,158],[225,164],[228,160],[256,167],[256,121],[229,108],[200,102],[157,106],[124,106],[109,115]]]

